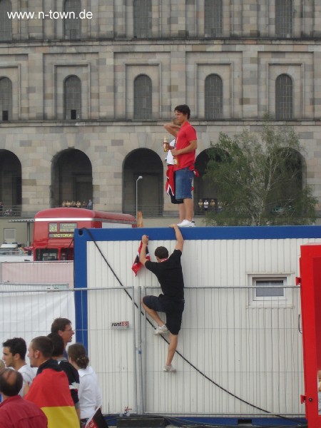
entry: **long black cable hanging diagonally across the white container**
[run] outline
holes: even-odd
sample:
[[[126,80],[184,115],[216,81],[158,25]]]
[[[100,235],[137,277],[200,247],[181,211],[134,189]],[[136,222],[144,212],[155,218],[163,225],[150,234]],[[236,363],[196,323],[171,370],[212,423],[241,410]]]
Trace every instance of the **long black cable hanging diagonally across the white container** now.
[[[123,283],[121,282],[121,280],[118,278],[118,276],[116,275],[116,272],[113,270],[113,267],[111,267],[111,265],[108,263],[108,260],[106,259],[105,255],[103,255],[103,252],[101,251],[101,249],[99,248],[98,244],[96,243],[95,238],[93,238],[93,235],[91,233],[90,230],[88,230],[87,228],[81,228],[80,230],[86,230],[88,235],[90,236],[91,240],[93,241],[94,245],[96,246],[97,250],[99,251],[99,253],[101,254],[103,260],[105,260],[106,264],[108,265],[109,269],[111,270],[111,272],[113,272],[113,275],[116,277],[116,280],[118,281],[119,285],[121,285],[121,287],[123,287],[124,291],[126,292],[126,294],[128,295],[128,297],[133,300],[133,297],[131,297],[131,295],[129,294],[129,292],[126,290],[126,288],[124,288]],[[135,302],[135,306],[138,308],[137,303]],[[144,313],[141,311],[141,314],[144,315]],[[145,316],[145,315],[144,315]],[[149,322],[150,325],[153,326],[153,323],[148,320],[148,318],[146,318],[146,320]],[[165,339],[165,337],[163,337],[163,335],[161,335],[161,337],[163,338],[163,340],[165,340],[165,342],[169,345],[169,342],[167,339]],[[263,409],[262,407],[256,406],[255,404],[252,404],[250,402],[248,402],[247,400],[238,397],[238,395],[233,394],[233,392],[228,391],[228,389],[226,389],[225,387],[222,387],[222,385],[218,384],[217,382],[215,382],[215,380],[210,379],[210,377],[208,377],[205,373],[203,373],[201,370],[199,370],[197,367],[195,367],[195,365],[193,365],[192,362],[190,362],[186,357],[184,357],[178,350],[176,350],[176,354],[178,354],[185,362],[188,363],[188,365],[190,365],[190,367],[192,367],[194,370],[196,370],[196,372],[198,372],[201,376],[203,376],[205,379],[207,379],[209,382],[211,382],[212,384],[215,385],[215,387],[218,387],[219,389],[221,389],[223,392],[226,392],[228,395],[230,395],[231,397],[238,399],[240,402],[243,402],[244,404],[247,404],[250,407],[253,407],[253,409],[257,409],[260,410],[260,412],[264,412],[267,414],[272,414],[272,412],[270,412],[269,410]],[[297,420],[297,419],[293,419],[290,417],[286,417],[286,416],[282,416],[282,414],[272,414],[275,417],[280,417],[281,419],[286,419],[288,421],[292,421],[292,422],[296,422],[297,424],[299,424],[300,427],[305,427],[307,426],[302,425],[302,422]]]

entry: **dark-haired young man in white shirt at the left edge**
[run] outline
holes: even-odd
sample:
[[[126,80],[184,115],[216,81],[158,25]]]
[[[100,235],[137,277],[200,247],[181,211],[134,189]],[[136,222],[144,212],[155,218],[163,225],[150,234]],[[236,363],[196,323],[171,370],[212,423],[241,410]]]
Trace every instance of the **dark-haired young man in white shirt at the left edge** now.
[[[25,385],[30,385],[36,376],[36,372],[26,364],[26,341],[22,337],[14,337],[13,339],[6,340],[2,346],[4,347],[2,360],[4,360],[6,367],[11,367],[22,374],[24,382],[19,395],[23,397]]]

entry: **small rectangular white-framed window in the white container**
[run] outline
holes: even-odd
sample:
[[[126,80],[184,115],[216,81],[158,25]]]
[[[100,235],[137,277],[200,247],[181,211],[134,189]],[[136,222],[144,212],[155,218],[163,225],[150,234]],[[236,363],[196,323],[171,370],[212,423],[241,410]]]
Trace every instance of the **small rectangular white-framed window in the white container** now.
[[[291,274],[248,275],[250,306],[291,306],[291,279]]]

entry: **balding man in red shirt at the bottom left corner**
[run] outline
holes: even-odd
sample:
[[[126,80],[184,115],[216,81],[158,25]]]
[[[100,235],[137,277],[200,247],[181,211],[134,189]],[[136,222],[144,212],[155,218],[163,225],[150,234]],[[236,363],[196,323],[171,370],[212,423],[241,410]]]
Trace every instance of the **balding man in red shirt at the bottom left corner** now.
[[[1,428],[47,428],[44,412],[36,404],[21,398],[22,374],[6,369],[0,375],[0,392],[4,400],[0,404]]]

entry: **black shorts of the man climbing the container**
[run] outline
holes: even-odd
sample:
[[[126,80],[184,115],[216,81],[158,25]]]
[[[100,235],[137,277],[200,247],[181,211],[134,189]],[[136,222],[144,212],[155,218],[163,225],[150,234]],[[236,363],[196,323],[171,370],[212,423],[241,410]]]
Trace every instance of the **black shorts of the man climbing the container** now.
[[[178,335],[182,325],[182,315],[184,311],[185,300],[170,300],[164,295],[145,296],[144,304],[156,312],[165,312],[166,327],[172,335]]]

